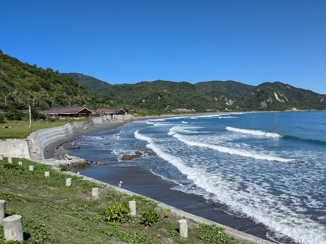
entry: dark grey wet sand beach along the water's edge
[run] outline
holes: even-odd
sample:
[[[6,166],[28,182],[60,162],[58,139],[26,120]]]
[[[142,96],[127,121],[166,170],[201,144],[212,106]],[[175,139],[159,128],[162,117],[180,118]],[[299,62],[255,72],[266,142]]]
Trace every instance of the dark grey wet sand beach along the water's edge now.
[[[151,118],[168,117],[172,116],[141,117],[137,119],[146,120]],[[44,155],[46,158],[53,158],[67,153],[71,156],[80,156],[88,160],[87,153],[85,152],[81,153],[78,149],[60,148],[71,147],[68,142],[84,134],[91,134],[99,131],[105,131],[105,134],[107,135],[119,133],[120,129],[122,127],[128,126],[129,123],[130,122],[115,122],[97,124],[90,126],[88,129],[73,128],[74,135],[72,137],[66,138],[65,141],[52,143],[48,146],[48,149],[51,147],[52,150],[57,148],[56,152],[45,152]],[[219,224],[227,225],[231,228],[246,232],[262,239],[272,241],[266,236],[267,229],[264,226],[256,224],[252,220],[243,218],[242,216],[237,217],[229,215],[227,213],[227,207],[224,205],[210,203],[203,197],[195,194],[187,194],[181,191],[170,189],[176,186],[175,182],[162,179],[160,176],[153,174],[150,169],[146,167],[92,165],[79,168],[72,167],[72,171],[76,173],[80,172],[80,174],[92,177],[96,180],[105,178],[105,182],[111,185],[118,185],[120,181],[123,181],[124,183],[122,187],[126,190],[156,199],[157,201],[162,201],[168,205],[179,208],[186,212],[201,216]]]

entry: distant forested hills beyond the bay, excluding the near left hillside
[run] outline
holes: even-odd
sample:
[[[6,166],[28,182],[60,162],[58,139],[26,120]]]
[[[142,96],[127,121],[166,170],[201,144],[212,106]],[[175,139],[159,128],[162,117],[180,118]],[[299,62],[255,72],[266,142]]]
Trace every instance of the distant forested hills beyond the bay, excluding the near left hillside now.
[[[94,80],[93,77],[87,79],[91,76],[78,74],[74,77],[81,84],[87,83],[92,87],[92,91],[105,99],[148,109],[161,110],[168,105],[168,110],[195,108],[200,111],[203,111],[202,108],[213,109],[213,111],[215,109],[225,111],[225,108],[232,111],[326,109],[325,94],[295,88],[281,82],[265,82],[259,86],[251,86],[231,80],[206,81],[196,84],[156,80],[110,85],[97,79]]]

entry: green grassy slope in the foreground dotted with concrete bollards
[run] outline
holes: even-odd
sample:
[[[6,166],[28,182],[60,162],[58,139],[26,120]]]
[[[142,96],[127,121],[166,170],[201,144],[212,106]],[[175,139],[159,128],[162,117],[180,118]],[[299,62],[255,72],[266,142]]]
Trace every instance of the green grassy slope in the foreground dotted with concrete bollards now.
[[[12,168],[18,161],[23,166]],[[34,165],[34,171],[28,170],[29,165]],[[211,237],[213,232],[199,229],[200,225],[189,219],[188,238],[180,239],[175,230],[181,217],[172,212],[151,227],[144,226],[140,218],[142,211],[154,207],[161,216],[167,211],[145,197],[121,194],[113,187],[97,186],[99,198],[94,199],[91,189],[96,183],[50,168],[20,158],[13,158],[13,165],[8,165],[7,158],[0,160],[0,199],[6,200],[7,215],[22,215],[26,243],[239,243],[224,234],[228,241],[211,242],[215,238]],[[44,171],[50,171],[50,177],[45,178]],[[72,178],[72,187],[65,185],[66,178]],[[133,199],[137,212],[134,218],[129,216],[122,224],[105,218],[107,205],[128,204]],[[216,230],[215,233],[221,235]],[[2,225],[0,243],[6,243]]]

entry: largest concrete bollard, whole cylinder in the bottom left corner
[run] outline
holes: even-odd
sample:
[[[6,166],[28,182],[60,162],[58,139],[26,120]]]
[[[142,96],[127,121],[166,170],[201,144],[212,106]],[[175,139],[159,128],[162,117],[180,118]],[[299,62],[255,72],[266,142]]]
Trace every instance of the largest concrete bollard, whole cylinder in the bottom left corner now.
[[[22,241],[22,215],[12,215],[3,220],[3,229],[6,240]]]

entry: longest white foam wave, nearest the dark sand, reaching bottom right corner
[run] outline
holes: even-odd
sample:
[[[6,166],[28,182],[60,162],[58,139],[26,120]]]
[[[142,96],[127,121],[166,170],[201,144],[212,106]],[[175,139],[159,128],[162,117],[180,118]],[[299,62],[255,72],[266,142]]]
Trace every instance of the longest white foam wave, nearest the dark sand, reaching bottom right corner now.
[[[292,237],[301,243],[322,244],[326,241],[323,227],[309,219],[304,214],[293,212],[289,206],[284,205],[281,197],[269,194],[268,190],[247,183],[245,190],[236,182],[228,182],[216,173],[208,173],[203,168],[188,166],[180,158],[165,152],[153,140],[137,131],[135,137],[149,142],[151,148],[163,160],[168,161],[187,175],[198,187],[215,195],[215,200],[240,210],[247,216],[254,217],[258,222],[269,226],[271,229]],[[223,194],[221,194],[223,192]],[[309,230],[309,231],[307,231]]]

